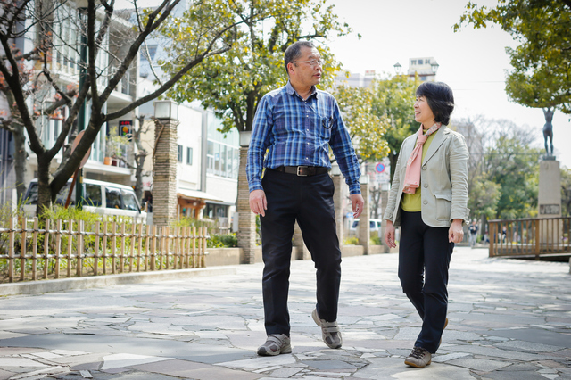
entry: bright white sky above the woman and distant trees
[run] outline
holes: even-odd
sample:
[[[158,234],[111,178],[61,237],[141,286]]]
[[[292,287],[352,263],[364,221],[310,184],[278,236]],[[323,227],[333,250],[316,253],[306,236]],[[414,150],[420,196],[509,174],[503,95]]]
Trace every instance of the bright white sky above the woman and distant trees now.
[[[473,0],[494,5],[492,0]],[[504,79],[511,70],[506,46],[517,43],[499,26],[473,29],[464,26],[454,33],[468,0],[329,0],[335,4],[340,21],[354,30],[350,36],[332,39],[329,45],[343,70],[364,74],[393,75],[400,62],[406,72],[409,59],[434,57],[439,63],[436,80],[451,86],[456,108],[453,119],[508,119],[536,135],[536,146],[543,146],[543,112],[509,101]],[[357,38],[357,33],[362,36]],[[412,104],[411,104],[412,110]],[[412,112],[412,111],[411,111]],[[561,166],[571,168],[569,115],[553,116],[555,155]]]

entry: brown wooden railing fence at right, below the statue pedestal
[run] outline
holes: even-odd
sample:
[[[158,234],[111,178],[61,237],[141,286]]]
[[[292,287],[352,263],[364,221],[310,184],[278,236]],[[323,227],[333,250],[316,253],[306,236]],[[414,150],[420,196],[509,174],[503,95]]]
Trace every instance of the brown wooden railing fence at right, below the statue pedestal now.
[[[568,255],[571,218],[490,220],[489,256]]]

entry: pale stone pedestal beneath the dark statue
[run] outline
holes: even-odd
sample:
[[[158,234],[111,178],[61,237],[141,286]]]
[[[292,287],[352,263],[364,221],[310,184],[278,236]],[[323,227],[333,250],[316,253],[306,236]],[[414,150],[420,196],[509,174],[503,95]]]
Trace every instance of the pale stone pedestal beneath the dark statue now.
[[[561,171],[559,161],[543,160],[539,169],[538,218],[559,218],[561,216]],[[547,221],[547,220],[546,220]],[[563,232],[562,220],[541,223],[540,239],[542,244],[558,244],[554,241]]]

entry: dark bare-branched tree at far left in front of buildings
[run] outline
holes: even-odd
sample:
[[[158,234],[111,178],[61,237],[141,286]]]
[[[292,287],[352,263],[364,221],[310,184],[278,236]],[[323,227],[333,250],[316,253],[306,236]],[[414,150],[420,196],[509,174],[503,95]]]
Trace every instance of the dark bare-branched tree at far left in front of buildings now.
[[[2,126],[20,128],[22,135],[21,128],[25,128],[29,146],[37,155],[38,211],[42,212],[54,201],[58,191],[79,167],[79,162],[95,141],[103,123],[117,119],[165,93],[204,59],[227,52],[236,35],[236,25],[249,20],[244,17],[244,20],[235,21],[232,14],[224,12],[226,8],[222,9],[208,1],[195,1],[191,4],[184,20],[170,18],[170,13],[179,2],[180,0],[163,0],[155,9],[141,11],[135,1],[133,20],[136,21],[132,28],[125,27],[125,23],[119,21],[130,13],[116,11],[114,0],[110,3],[105,0],[97,3],[88,0],[87,8],[80,10],[75,3],[65,0],[2,2],[0,45],[3,51],[0,53],[0,74],[4,87],[7,88],[3,90],[4,94],[7,93],[8,99],[14,104],[11,118],[3,121]],[[62,27],[64,21],[68,26],[66,28]],[[106,112],[104,104],[133,66],[141,45],[153,33],[174,24],[178,25],[178,36],[182,36],[174,45],[186,46],[185,54],[172,58],[173,62],[182,62],[178,64],[178,70],[171,71],[170,76],[151,94],[128,103],[119,110]],[[112,36],[115,27],[120,36]],[[87,53],[84,53],[85,49],[78,49],[77,41],[69,42],[70,29],[85,41]],[[34,41],[34,44],[29,51],[20,52],[13,43],[24,37]],[[109,43],[111,39],[118,45]],[[62,54],[62,51],[68,54],[77,52],[78,56],[83,54],[85,57],[85,60],[73,62],[85,78],[84,86],[77,94],[62,87],[62,81],[54,70],[57,62],[54,62],[53,54]],[[103,56],[109,56],[107,62],[102,62]],[[69,55],[63,54],[63,57],[65,60],[70,59]],[[34,80],[28,80],[29,73],[22,69],[22,60],[31,63],[28,70],[33,72]],[[82,65],[81,62],[85,64]],[[42,83],[45,89],[36,91],[34,87],[37,83]],[[37,130],[37,120],[50,111],[49,107],[37,109],[37,96],[32,95],[40,93],[53,97],[52,103],[55,103],[52,108],[59,103],[59,107],[65,105],[67,108],[68,114],[62,124],[62,131],[51,147],[43,144]],[[88,102],[90,108],[84,136],[73,153],[70,150],[64,153],[62,163],[52,174],[51,162],[64,146],[70,132],[77,130],[74,123],[83,115],[80,110],[84,102]]]

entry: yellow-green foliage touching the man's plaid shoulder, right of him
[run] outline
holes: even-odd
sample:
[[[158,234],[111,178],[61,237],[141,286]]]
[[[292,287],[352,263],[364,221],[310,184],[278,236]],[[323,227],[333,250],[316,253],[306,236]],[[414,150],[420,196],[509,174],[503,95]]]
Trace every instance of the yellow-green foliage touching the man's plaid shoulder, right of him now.
[[[386,115],[372,113],[374,94],[369,88],[339,86],[335,98],[361,161],[380,161],[389,153],[385,132],[390,128]]]

